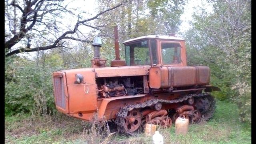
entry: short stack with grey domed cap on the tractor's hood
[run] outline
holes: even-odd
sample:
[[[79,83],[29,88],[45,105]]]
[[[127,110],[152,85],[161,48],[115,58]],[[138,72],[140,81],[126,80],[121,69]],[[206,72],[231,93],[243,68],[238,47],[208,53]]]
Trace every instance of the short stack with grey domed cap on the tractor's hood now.
[[[94,38],[92,46],[94,47],[94,59],[91,60],[92,68],[106,67],[107,60],[105,58],[100,58],[100,47],[102,46],[100,37],[96,36]]]

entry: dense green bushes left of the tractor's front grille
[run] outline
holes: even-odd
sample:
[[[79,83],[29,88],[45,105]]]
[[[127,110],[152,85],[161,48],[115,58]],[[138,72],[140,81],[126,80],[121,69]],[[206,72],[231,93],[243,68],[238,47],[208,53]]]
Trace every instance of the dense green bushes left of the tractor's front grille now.
[[[55,112],[52,72],[61,69],[62,60],[51,55],[41,62],[26,58],[5,59],[5,114]]]

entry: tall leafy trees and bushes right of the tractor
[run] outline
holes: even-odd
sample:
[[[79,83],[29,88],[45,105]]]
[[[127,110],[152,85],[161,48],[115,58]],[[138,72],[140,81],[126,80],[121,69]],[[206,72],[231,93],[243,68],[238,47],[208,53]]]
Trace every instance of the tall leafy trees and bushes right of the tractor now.
[[[240,120],[251,122],[251,1],[210,0],[213,12],[194,13],[186,33],[188,63],[201,62],[212,72],[212,84],[240,108]]]

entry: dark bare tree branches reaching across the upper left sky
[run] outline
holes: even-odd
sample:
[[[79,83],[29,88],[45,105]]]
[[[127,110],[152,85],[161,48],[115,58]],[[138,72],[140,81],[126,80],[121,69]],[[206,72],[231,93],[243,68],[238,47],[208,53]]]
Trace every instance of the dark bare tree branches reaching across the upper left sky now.
[[[20,20],[20,32],[18,34],[14,35],[12,38],[10,38],[10,40],[5,42],[5,49],[10,50],[12,48],[12,46],[14,46],[18,42],[20,42],[20,40],[22,40],[22,38],[27,37],[26,33],[33,29],[33,26],[36,24],[36,22],[41,22],[42,23],[42,18],[43,18],[45,13],[38,14],[38,12],[41,10],[40,7],[42,6],[42,3],[45,2],[45,1],[50,1],[50,0],[40,0],[40,1],[34,0],[32,2],[26,1],[27,6],[24,8],[24,10],[23,10],[24,13],[22,14],[22,19]],[[51,2],[52,1],[62,2],[63,0],[51,0]],[[90,26],[90,25],[85,24],[85,23],[98,18],[99,16],[101,16],[102,14],[104,14],[106,12],[109,12],[111,10],[114,10],[115,8],[118,8],[118,7],[122,6],[126,2],[127,2],[127,0],[125,0],[124,2],[114,6],[112,8],[108,8],[108,9],[96,14],[96,16],[94,16],[92,18],[82,20],[82,21],[79,21],[79,19],[78,19],[78,21],[76,22],[76,24],[74,26],[74,29],[64,32],[61,36],[56,38],[56,40],[53,42],[52,45],[40,46],[40,47],[35,47],[35,48],[30,48],[30,47],[20,48],[18,50],[13,50],[13,51],[9,52],[8,54],[6,54],[6,56],[12,56],[12,55],[18,54],[20,52],[35,52],[35,51],[38,51],[38,50],[48,50],[48,49],[52,49],[52,48],[58,48],[60,46],[63,47],[62,44],[59,44],[59,42],[63,39],[71,39],[71,40],[76,40],[76,41],[80,41],[80,42],[90,42],[89,40],[82,40],[82,39],[74,38],[72,36],[67,36],[67,35],[76,33],[76,31],[78,30],[78,26],[80,26],[80,24],[83,24],[85,26],[89,26],[89,27],[94,28],[96,30],[100,30],[97,26],[94,27],[94,26]],[[31,6],[33,6],[35,4],[36,4],[36,6],[35,6],[36,10],[32,10]],[[60,6],[59,4],[54,4],[54,5],[55,6]],[[63,7],[63,6],[61,6],[61,7],[66,10],[66,7]],[[44,7],[43,11],[44,10],[46,10],[46,6]],[[48,12],[51,13],[52,11],[55,11],[55,10],[60,10],[60,9],[51,9],[51,10],[48,10],[48,11],[46,10],[46,13],[48,13]],[[31,20],[31,18],[27,18],[28,15],[33,13],[33,12],[34,12],[33,19]],[[56,15],[56,16],[58,16],[58,15]],[[38,18],[39,18],[39,20],[38,20]],[[32,23],[26,28],[27,22],[31,22],[31,21],[32,21]],[[44,23],[44,24],[47,26],[46,23]]]

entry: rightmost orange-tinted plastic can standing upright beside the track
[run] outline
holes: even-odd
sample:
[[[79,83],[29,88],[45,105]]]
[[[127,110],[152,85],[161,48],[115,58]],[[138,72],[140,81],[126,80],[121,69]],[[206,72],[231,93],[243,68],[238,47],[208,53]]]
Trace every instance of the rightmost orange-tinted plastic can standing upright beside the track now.
[[[178,117],[175,121],[175,134],[185,135],[188,132],[188,119]]]

